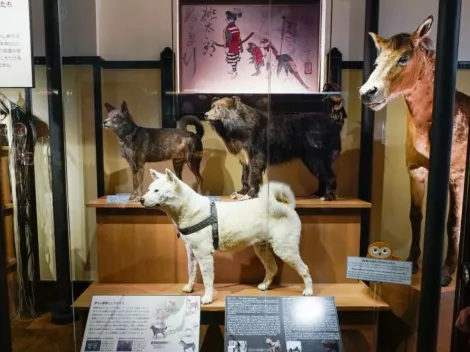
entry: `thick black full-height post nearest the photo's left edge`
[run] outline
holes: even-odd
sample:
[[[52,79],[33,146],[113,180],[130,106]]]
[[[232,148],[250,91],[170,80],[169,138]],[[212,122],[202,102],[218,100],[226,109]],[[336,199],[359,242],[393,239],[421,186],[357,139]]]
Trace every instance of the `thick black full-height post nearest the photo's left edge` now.
[[[56,294],[51,321],[73,321],[71,309],[69,221],[65,158],[65,124],[62,102],[62,57],[60,52],[59,0],[44,0],[44,29],[51,145],[52,205],[56,258]]]

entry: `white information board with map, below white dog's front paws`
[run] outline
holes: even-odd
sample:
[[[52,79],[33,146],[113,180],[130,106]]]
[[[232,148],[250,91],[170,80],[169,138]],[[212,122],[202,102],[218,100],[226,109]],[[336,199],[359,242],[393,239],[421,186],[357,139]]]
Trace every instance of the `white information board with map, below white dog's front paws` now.
[[[81,352],[199,351],[199,296],[94,296]]]

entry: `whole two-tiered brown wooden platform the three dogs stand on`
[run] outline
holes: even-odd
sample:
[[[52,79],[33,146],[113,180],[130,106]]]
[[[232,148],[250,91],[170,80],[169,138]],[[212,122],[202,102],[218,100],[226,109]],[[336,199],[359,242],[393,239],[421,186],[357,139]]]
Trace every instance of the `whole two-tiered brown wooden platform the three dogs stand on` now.
[[[221,201],[234,200],[222,197]],[[83,323],[93,295],[182,294],[188,280],[186,248],[165,213],[139,203],[106,204],[106,197],[87,207],[96,209],[99,283],[92,284],[74,303]],[[358,199],[296,199],[302,221],[300,254],[313,281],[321,282],[314,285],[315,294],[335,297],[348,352],[378,350],[379,315],[389,309],[364,283],[346,279],[346,258],[359,255],[361,212],[370,207]],[[224,350],[221,327],[227,295],[300,296],[303,287],[297,273],[278,260],[273,289],[257,290],[265,272],[252,248],[216,251],[214,257],[216,292],[214,302],[202,307],[202,352]],[[280,282],[283,284],[278,285]],[[202,295],[201,284],[193,294]]]

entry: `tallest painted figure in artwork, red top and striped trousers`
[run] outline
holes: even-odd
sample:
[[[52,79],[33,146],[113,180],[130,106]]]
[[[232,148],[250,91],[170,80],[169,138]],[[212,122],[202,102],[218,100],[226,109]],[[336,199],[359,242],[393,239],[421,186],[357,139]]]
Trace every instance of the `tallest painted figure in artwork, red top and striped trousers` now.
[[[243,52],[243,46],[240,36],[240,29],[235,24],[237,19],[242,17],[242,12],[239,9],[225,12],[225,20],[227,27],[223,30],[223,40],[225,48],[225,61],[232,67],[229,75],[236,78],[238,75],[237,66],[241,60],[240,53]]]

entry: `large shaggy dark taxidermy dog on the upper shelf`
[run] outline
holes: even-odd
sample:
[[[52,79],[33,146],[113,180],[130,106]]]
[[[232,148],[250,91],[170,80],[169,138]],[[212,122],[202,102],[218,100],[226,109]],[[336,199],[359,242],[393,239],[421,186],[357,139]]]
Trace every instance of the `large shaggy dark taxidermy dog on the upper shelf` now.
[[[332,91],[334,85],[325,85]],[[234,198],[256,197],[267,165],[278,165],[300,158],[317,177],[314,196],[335,200],[336,175],[333,161],[341,152],[341,129],[346,112],[338,94],[331,99],[330,114],[322,112],[276,114],[252,108],[239,97],[214,98],[206,120],[223,139],[228,151],[243,166],[242,189]],[[338,117],[339,116],[339,117]]]

